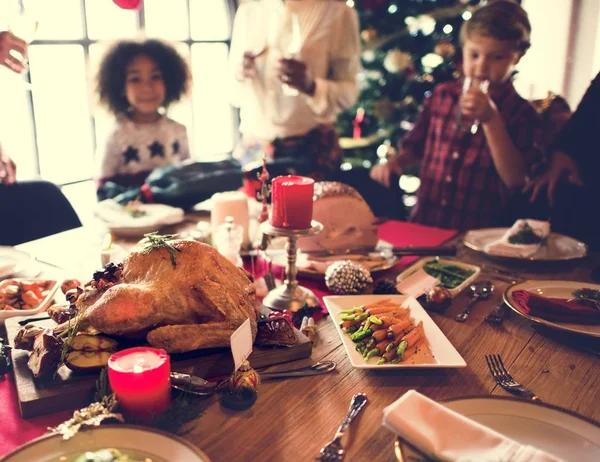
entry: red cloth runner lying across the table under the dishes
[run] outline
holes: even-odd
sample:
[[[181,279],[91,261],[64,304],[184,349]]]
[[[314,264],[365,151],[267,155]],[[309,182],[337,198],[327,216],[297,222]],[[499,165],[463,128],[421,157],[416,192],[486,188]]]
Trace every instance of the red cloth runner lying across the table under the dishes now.
[[[388,221],[379,226],[379,238],[395,246],[433,247],[443,244],[455,235],[456,231],[453,230],[432,228],[402,221]],[[417,257],[402,258],[393,269],[383,273],[381,277],[390,277],[398,272],[401,267],[412,263],[416,259]],[[328,294],[325,282],[304,279],[301,283],[311,289],[322,304],[323,296]],[[320,316],[324,314],[326,314],[326,311],[320,313]],[[72,416],[72,411],[63,411],[34,419],[22,419],[15,384],[10,374],[4,379],[0,379],[0,403],[0,457],[44,434],[48,427],[56,426]]]

